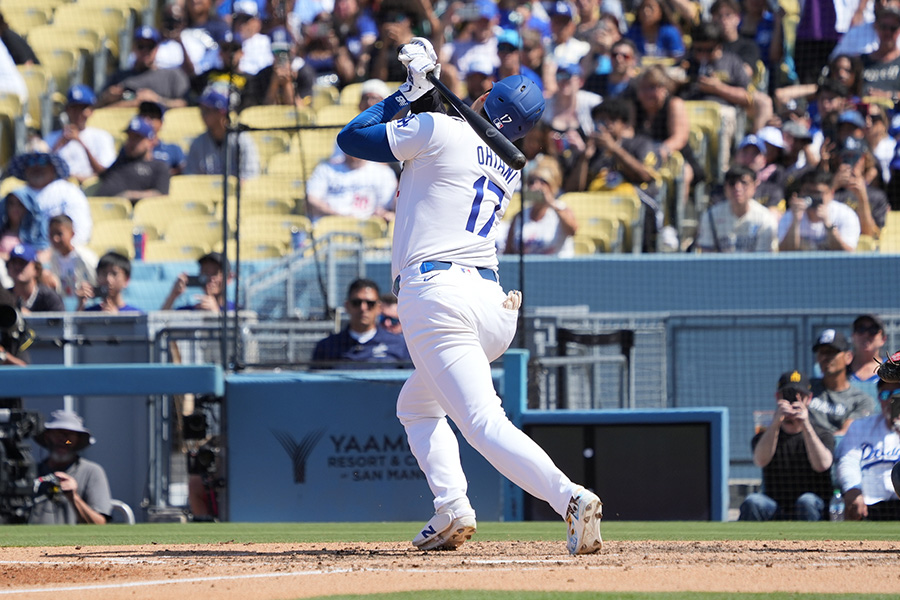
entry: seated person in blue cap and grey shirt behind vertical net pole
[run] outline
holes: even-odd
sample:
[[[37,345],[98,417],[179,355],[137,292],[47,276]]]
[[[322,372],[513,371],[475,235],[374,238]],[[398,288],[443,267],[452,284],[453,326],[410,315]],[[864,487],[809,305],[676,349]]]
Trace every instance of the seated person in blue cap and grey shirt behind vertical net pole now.
[[[228,135],[228,98],[209,89],[200,97],[200,116],[206,132],[191,142],[184,172],[188,175],[222,175],[225,172],[226,142],[231,163],[228,172],[241,179],[259,175],[259,151],[246,132]],[[240,158],[239,158],[240,156]],[[240,162],[238,162],[240,161]]]

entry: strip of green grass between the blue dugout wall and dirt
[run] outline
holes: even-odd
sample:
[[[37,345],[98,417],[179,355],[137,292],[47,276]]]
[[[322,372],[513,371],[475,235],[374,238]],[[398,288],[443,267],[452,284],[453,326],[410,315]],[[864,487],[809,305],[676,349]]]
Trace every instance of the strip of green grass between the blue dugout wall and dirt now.
[[[402,542],[414,523],[145,523],[134,526],[7,525],[0,546],[106,546],[134,544]],[[872,540],[900,541],[900,522],[708,523],[609,521],[607,541],[641,540]],[[563,541],[562,522],[479,522],[479,541]]]

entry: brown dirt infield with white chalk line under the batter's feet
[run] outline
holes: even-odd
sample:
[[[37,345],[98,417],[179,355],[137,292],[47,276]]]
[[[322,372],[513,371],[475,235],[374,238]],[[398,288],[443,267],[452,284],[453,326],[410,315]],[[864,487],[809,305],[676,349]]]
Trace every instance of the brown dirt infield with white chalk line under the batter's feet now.
[[[897,593],[898,542],[562,542],[0,549],[0,598],[275,600],[422,589]]]

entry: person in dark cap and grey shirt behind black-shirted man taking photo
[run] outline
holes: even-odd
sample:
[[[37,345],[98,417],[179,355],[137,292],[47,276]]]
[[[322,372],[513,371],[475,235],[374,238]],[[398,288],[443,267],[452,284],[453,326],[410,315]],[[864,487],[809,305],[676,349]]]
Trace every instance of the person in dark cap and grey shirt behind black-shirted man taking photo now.
[[[823,429],[843,435],[855,419],[877,411],[875,401],[850,385],[848,367],[853,362],[853,353],[843,333],[823,330],[813,345],[813,352],[822,378],[812,380],[811,419]]]

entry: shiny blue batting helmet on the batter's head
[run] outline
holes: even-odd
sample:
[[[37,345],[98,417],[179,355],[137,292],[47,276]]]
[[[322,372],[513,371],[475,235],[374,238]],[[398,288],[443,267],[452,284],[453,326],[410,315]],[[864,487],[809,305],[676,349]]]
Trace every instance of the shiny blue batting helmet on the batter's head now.
[[[522,75],[512,75],[494,84],[484,112],[494,127],[512,142],[531,131],[544,113],[544,95],[537,84]]]

